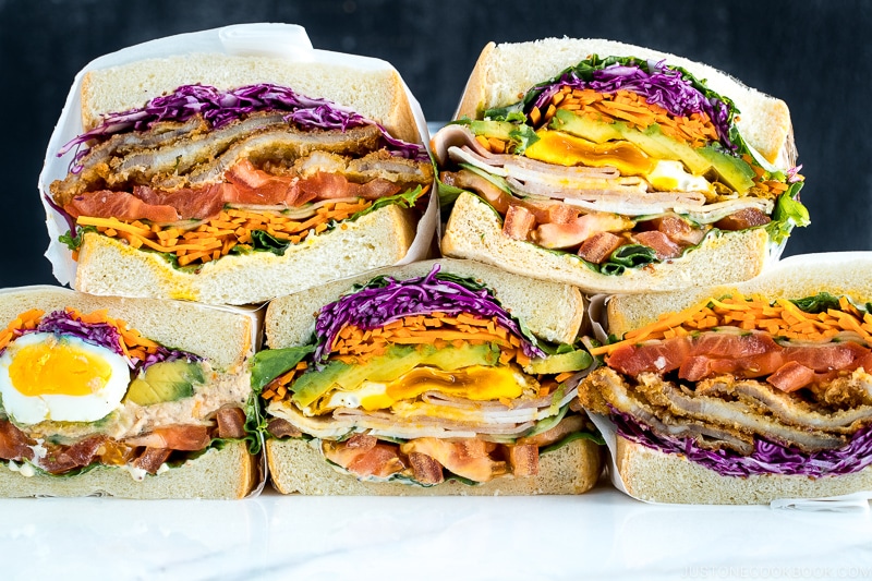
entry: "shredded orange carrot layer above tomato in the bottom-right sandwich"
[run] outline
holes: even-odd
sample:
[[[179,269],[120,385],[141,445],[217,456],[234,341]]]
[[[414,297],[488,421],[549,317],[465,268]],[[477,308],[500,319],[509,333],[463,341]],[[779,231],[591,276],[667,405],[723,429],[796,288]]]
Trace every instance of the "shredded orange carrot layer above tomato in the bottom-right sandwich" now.
[[[761,296],[743,296],[738,293],[719,300],[706,299],[680,313],[662,315],[658,320],[625,334],[621,341],[592,349],[591,354],[613,353],[620,347],[647,339],[669,339],[723,326],[765,330],[778,337],[803,341],[825,341],[847,331],[859,335],[863,341],[872,342],[872,317],[868,313],[861,313],[846,298],[841,298],[839,304],[840,310],[829,308],[815,315],[804,313],[786,299],[770,303]],[[736,325],[736,322],[740,324]]]

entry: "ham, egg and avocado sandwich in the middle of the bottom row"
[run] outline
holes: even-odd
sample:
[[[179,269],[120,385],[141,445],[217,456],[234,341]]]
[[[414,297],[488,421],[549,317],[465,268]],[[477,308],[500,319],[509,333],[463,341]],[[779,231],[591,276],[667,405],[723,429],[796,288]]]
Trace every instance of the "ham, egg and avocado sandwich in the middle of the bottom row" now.
[[[269,474],[308,495],[580,494],[600,436],[570,286],[426,261],[275,299],[255,356]]]

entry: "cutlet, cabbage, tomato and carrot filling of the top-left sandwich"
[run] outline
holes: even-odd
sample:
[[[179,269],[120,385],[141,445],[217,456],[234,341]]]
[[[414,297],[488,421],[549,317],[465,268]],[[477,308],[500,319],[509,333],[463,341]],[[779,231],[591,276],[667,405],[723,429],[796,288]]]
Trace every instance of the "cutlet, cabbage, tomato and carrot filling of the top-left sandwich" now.
[[[291,244],[390,204],[415,207],[433,181],[416,144],[326,99],[269,84],[185,85],[109,113],[75,149],[50,204],[85,232],[125,240],[175,266]]]

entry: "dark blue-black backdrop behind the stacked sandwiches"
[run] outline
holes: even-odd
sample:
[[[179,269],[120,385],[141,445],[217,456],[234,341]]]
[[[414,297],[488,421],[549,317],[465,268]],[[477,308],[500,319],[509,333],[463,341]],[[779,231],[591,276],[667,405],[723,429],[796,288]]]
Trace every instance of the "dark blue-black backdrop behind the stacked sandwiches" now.
[[[0,287],[51,283],[37,180],[88,61],[161,36],[247,22],[305,26],[316,48],[390,61],[428,121],[448,120],[489,40],[598,37],[707,62],[790,107],[812,226],[786,254],[872,250],[872,3],[0,0]]]

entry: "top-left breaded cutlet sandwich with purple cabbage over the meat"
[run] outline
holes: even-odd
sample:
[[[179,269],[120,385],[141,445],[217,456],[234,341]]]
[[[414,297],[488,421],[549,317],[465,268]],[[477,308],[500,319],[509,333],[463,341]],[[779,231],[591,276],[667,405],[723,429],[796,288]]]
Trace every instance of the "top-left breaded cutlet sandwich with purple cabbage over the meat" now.
[[[433,165],[399,74],[306,55],[116,58],[82,75],[81,131],[44,175],[76,290],[258,303],[396,264],[419,233],[428,246]]]

